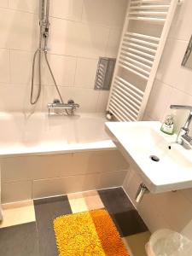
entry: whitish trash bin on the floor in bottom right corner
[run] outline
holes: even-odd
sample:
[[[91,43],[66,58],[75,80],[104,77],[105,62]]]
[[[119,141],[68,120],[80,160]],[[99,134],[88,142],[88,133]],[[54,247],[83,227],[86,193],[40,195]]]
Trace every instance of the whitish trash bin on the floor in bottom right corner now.
[[[148,256],[192,256],[192,241],[172,230],[157,230],[146,245]]]

